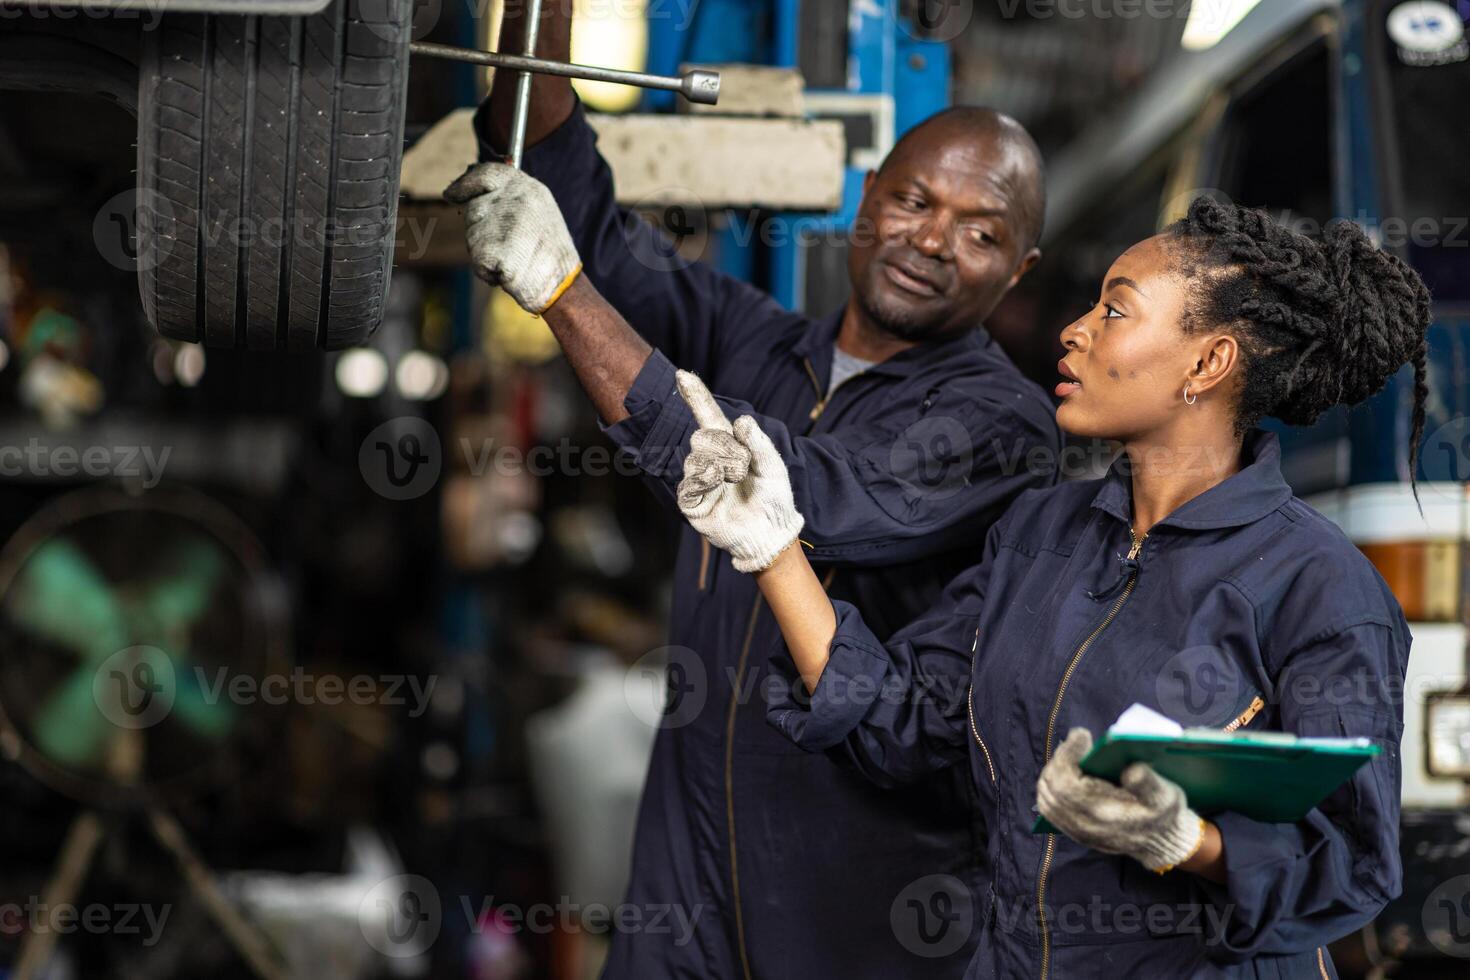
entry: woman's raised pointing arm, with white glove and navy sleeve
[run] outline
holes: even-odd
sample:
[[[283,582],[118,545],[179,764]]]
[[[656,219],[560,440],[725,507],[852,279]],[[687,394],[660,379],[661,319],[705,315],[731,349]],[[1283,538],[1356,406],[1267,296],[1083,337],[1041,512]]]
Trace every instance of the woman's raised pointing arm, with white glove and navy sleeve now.
[[[958,761],[966,746],[979,601],[988,564],[960,574],[933,610],[878,642],[847,602],[828,599],[797,544],[781,454],[754,419],[704,414],[685,460],[679,508],[701,535],[756,576],[795,661],[797,689],[767,689],[767,718],[797,745],[844,754],[883,786]],[[986,538],[994,554],[997,532]]]

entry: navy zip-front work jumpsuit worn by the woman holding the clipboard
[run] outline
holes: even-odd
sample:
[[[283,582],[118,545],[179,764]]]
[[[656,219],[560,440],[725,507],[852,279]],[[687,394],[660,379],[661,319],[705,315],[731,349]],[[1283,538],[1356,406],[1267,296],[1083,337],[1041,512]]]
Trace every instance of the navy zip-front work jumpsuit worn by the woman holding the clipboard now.
[[[883,785],[969,761],[989,887],[967,976],[1335,977],[1326,943],[1398,893],[1408,626],[1367,558],[1292,497],[1276,436],[1250,433],[1247,463],[1142,541],[1122,460],[1023,494],[983,561],[886,644],[836,601],[810,704],[772,705],[795,742]],[[1191,727],[1364,736],[1382,755],[1301,823],[1213,817],[1225,884],[1032,835],[1057,743],[1133,702]]]

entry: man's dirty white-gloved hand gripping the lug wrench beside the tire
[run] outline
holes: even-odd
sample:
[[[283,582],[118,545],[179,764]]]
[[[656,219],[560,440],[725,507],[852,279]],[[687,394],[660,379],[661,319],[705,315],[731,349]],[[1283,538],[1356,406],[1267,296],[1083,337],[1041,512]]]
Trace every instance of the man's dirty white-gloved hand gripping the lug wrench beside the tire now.
[[[481,163],[444,190],[467,204],[465,241],[475,275],[501,287],[522,310],[544,313],[566,291],[582,260],[545,184],[507,163]]]

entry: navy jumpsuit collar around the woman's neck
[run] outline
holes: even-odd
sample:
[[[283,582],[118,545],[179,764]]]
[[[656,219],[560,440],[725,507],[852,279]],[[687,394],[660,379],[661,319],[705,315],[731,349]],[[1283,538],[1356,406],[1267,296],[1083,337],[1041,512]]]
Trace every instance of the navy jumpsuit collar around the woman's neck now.
[[[1276,433],[1251,429],[1244,445],[1248,460],[1239,473],[1216,483],[1179,510],[1158,522],[1158,527],[1213,530],[1251,525],[1291,500],[1291,486],[1282,478],[1282,447]],[[1201,466],[1205,460],[1200,460]],[[1092,505],[1126,525],[1133,523],[1133,482],[1127,457],[1119,454]]]

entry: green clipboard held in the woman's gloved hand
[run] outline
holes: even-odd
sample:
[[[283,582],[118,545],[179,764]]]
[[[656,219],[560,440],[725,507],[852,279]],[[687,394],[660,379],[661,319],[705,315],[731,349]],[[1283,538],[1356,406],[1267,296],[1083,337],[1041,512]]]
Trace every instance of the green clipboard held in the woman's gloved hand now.
[[[1202,817],[1232,811],[1263,823],[1297,823],[1380,752],[1369,739],[1310,739],[1280,732],[1104,735],[1082,760],[1088,776],[1119,782],[1148,763],[1185,790]],[[1038,815],[1032,833],[1057,833]]]

